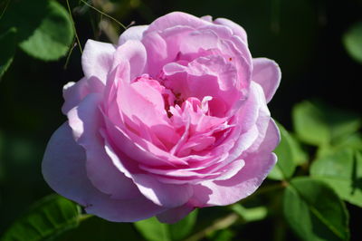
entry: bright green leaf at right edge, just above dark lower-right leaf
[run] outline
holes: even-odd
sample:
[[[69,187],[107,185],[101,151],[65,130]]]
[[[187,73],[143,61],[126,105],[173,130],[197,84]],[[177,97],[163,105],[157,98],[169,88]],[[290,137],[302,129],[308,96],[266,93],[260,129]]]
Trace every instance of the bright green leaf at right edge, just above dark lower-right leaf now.
[[[362,154],[343,149],[314,161],[310,175],[329,184],[340,198],[362,207]]]

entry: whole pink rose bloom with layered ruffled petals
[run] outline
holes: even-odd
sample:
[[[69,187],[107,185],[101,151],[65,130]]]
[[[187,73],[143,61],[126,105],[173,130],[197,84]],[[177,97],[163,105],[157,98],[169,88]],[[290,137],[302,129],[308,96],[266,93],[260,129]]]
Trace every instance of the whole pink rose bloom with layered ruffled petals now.
[[[81,64],[43,176],[87,213],[176,222],[251,195],[274,166],[280,135],[267,102],[281,72],[252,59],[240,25],[171,13],[117,45],[88,40]]]

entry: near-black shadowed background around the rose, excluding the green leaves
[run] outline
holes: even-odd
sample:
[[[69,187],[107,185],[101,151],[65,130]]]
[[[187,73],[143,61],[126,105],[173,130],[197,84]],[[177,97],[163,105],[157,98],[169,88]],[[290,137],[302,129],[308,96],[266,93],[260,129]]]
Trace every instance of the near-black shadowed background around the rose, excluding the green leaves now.
[[[59,1],[63,4],[63,1]],[[102,2],[105,1],[96,1]],[[107,1],[106,1],[107,2]],[[271,115],[291,130],[291,110],[303,100],[318,99],[334,107],[361,112],[362,65],[351,59],[342,36],[362,20],[362,1],[323,0],[183,0],[110,1],[109,14],[122,24],[149,24],[157,16],[183,11],[196,16],[225,17],[248,34],[253,57],[280,64],[281,86],[269,107]],[[71,1],[82,45],[88,38],[107,39],[94,31],[100,14]],[[91,20],[91,21],[90,21]],[[0,46],[1,47],[1,46]],[[45,63],[17,50],[14,63],[0,82],[0,234],[34,200],[52,192],[43,181],[41,161],[52,132],[65,119],[62,86],[81,79],[81,53]],[[361,211],[348,206],[352,237],[360,236]],[[270,220],[263,221],[269,224]],[[267,228],[252,240],[271,235]],[[358,233],[359,232],[359,233]],[[291,235],[292,236],[292,235]],[[265,239],[264,239],[265,240]]]

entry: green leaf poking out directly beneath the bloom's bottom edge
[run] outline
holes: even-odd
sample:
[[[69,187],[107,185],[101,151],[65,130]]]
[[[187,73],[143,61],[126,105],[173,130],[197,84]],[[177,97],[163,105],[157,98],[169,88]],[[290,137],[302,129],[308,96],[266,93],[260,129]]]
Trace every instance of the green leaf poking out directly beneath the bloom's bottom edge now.
[[[138,221],[134,225],[149,241],[183,240],[192,232],[196,218],[197,210],[172,225],[160,223],[156,217]]]

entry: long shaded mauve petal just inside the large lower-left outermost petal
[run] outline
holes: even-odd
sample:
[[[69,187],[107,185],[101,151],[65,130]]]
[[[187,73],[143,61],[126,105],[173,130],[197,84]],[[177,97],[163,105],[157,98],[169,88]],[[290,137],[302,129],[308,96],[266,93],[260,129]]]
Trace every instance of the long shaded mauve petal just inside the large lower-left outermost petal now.
[[[99,94],[89,94],[77,108],[68,112],[69,123],[77,142],[86,151],[86,169],[91,183],[112,198],[135,198],[136,186],[111,162],[105,149],[100,127]]]

